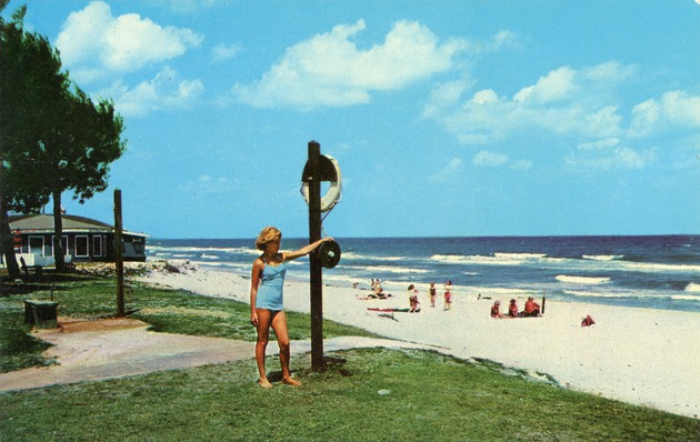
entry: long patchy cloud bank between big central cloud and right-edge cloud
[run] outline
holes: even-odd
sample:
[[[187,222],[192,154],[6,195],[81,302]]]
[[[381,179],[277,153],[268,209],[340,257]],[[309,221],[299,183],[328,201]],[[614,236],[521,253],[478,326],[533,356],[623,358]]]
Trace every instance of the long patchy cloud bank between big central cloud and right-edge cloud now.
[[[526,86],[512,99],[492,89],[471,98],[466,82],[441,84],[431,93],[423,117],[437,120],[464,144],[501,141],[520,133],[573,138],[614,138],[623,133],[622,115],[610,93],[620,80],[636,72],[633,66],[607,62],[577,71],[558,68]],[[458,83],[459,84],[459,83]]]

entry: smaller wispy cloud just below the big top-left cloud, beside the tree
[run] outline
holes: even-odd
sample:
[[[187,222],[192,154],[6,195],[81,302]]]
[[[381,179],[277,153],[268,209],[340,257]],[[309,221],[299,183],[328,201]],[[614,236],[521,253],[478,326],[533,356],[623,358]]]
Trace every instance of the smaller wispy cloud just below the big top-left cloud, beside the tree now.
[[[104,96],[112,97],[124,117],[143,115],[158,110],[187,109],[199,98],[204,86],[199,80],[182,80],[171,68],[164,68],[152,80],[129,88],[116,81]]]

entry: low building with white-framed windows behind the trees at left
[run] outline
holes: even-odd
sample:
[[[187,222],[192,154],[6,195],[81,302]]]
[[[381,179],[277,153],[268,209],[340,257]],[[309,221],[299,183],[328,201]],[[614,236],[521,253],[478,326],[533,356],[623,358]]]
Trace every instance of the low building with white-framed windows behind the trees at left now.
[[[89,218],[63,214],[63,252],[67,262],[113,262],[114,227]],[[14,252],[26,261],[53,264],[53,215],[10,215]],[[146,261],[144,233],[122,232],[124,261]],[[19,260],[19,258],[18,258]]]

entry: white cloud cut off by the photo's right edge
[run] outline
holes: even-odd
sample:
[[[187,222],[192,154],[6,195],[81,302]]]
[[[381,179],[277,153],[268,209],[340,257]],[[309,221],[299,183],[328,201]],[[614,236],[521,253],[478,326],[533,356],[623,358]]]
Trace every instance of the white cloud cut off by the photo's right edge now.
[[[650,99],[632,109],[630,137],[644,137],[671,128],[700,128],[700,96],[669,91],[659,100]]]

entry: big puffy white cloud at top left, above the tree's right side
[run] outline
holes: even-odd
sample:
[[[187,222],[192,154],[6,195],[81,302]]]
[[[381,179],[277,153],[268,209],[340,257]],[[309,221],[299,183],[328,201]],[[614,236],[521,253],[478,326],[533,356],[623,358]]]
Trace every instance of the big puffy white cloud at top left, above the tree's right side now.
[[[137,71],[173,59],[202,40],[189,29],[161,27],[137,13],[113,17],[109,4],[92,1],[68,17],[56,46],[73,79],[92,81],[99,73]]]

